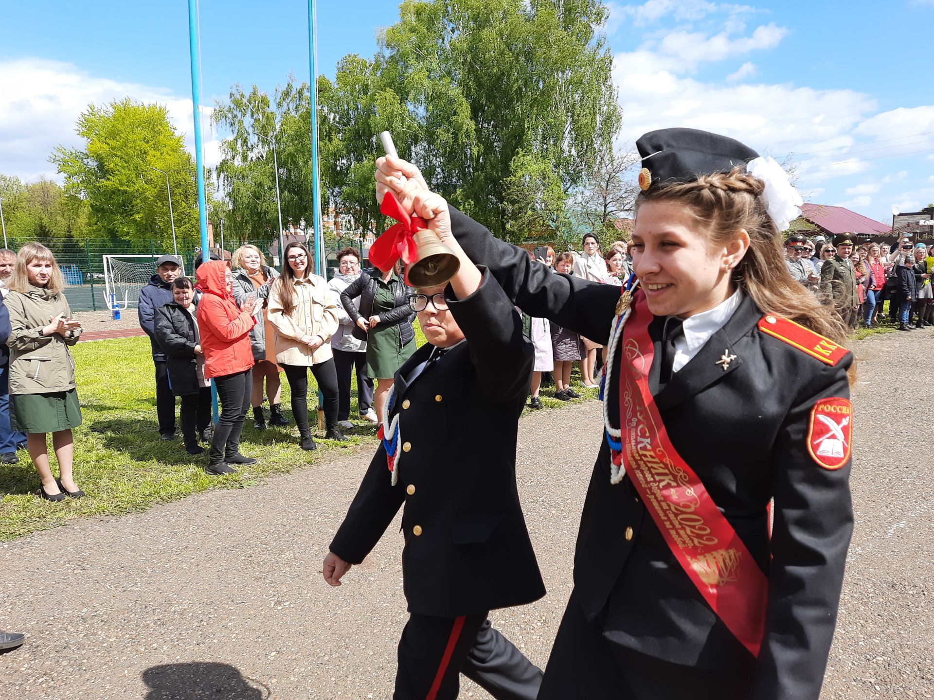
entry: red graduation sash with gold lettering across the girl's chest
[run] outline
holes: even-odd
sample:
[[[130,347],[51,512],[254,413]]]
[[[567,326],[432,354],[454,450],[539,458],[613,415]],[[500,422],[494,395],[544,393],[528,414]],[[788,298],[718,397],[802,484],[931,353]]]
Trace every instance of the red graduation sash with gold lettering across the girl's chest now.
[[[701,479],[678,455],[648,388],[653,319],[637,293],[621,341],[619,410],[625,469],[678,563],[729,631],[758,656],[768,580]],[[616,465],[622,455],[612,455]]]

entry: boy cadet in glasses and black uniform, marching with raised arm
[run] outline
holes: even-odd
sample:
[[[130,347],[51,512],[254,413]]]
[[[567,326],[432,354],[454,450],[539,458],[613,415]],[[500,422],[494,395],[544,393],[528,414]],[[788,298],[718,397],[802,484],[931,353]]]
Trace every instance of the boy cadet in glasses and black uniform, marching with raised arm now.
[[[441,197],[418,192],[415,211],[435,231],[450,230]],[[496,698],[533,700],[541,670],[488,621],[491,609],[545,595],[516,486],[533,350],[496,280],[453,248],[460,272],[450,286],[409,298],[428,343],[396,372],[380,447],[323,574],[340,585],[404,504],[410,617],[392,697],[455,698],[463,673]]]

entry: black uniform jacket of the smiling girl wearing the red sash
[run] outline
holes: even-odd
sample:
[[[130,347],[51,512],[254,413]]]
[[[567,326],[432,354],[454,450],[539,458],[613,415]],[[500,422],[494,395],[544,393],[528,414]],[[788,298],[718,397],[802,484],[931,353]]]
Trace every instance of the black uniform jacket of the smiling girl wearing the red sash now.
[[[594,341],[608,341],[619,287],[553,274],[456,210],[452,221],[467,254],[488,264],[521,309]],[[757,700],[817,700],[853,512],[849,461],[836,470],[818,466],[808,452],[808,427],[817,399],[849,398],[846,368],[852,355],[828,366],[757,329],[762,316],[746,296],[724,328],[661,392],[657,363],[649,376],[674,448],[768,576],[758,659],[688,579],[629,478],[611,485],[605,441],[581,517],[574,585],[588,618],[600,614],[604,635],[618,644],[683,665],[729,669],[755,664]],[[664,320],[657,318],[649,327],[657,358]],[[727,371],[716,364],[724,352],[736,356]],[[617,426],[622,355],[616,354],[613,385],[606,392]],[[766,508],[771,497],[770,541]],[[631,539],[624,537],[627,527],[633,529]]]

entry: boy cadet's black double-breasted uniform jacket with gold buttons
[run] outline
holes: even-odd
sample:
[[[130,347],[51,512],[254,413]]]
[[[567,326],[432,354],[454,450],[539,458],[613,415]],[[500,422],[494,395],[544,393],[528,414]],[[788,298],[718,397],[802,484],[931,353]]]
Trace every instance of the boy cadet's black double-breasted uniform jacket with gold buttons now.
[[[418,348],[396,372],[391,415],[402,459],[390,485],[376,451],[331,551],[359,564],[403,511],[403,587],[408,609],[456,617],[531,603],[545,595],[516,488],[518,419],[529,395],[533,351],[496,280],[449,308],[467,338],[406,378],[430,356]],[[416,534],[418,533],[418,534]]]

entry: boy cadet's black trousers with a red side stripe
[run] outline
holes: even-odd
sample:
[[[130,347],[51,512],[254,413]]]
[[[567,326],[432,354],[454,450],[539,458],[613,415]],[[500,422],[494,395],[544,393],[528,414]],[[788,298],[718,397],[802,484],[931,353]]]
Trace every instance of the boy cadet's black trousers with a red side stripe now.
[[[393,700],[453,700],[460,674],[497,700],[535,700],[542,671],[495,630],[487,614],[411,614],[399,641]]]

